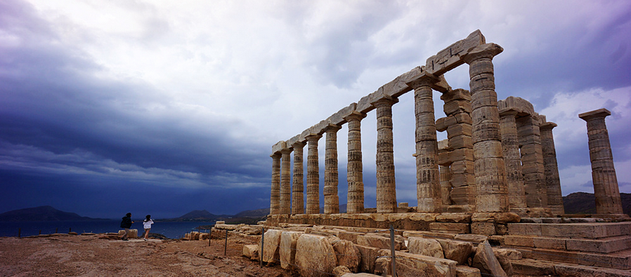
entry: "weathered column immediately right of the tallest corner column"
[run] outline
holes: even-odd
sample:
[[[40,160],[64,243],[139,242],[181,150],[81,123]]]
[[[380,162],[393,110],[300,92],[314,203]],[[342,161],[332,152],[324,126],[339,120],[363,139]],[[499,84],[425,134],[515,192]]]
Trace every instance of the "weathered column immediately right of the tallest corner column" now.
[[[526,215],[526,192],[523,189],[521,173],[521,156],[519,155],[519,139],[514,109],[500,111],[500,133],[502,135],[502,153],[506,166],[506,184],[510,211],[518,215]]]

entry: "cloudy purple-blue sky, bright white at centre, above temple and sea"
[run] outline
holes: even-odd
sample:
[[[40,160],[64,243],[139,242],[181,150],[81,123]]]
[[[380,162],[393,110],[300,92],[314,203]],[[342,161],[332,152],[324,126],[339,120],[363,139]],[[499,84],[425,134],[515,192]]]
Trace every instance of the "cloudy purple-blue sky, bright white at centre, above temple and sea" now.
[[[628,1],[345,2],[0,1],[0,212],[268,208],[275,142],[476,29],[505,48],[493,60],[498,98],[529,100],[559,125],[563,194],[593,191],[578,114],[600,108],[612,112],[620,191],[631,192]],[[469,87],[466,65],[445,78]],[[398,201],[412,206],[413,115],[408,93],[393,124]],[[366,206],[375,207],[374,112],[362,128]]]

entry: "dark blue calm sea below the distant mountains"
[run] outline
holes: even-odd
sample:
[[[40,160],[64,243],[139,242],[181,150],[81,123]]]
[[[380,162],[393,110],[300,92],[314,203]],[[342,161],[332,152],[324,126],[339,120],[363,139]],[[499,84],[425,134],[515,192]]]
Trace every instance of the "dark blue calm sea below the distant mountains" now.
[[[135,220],[131,229],[138,229],[138,233],[143,232],[142,220]],[[214,225],[214,222],[155,222],[152,225],[151,233],[162,234],[167,238],[181,238],[190,231],[197,231],[200,225]],[[72,230],[82,233],[116,233],[121,230],[120,219],[99,220],[99,221],[55,221],[55,222],[0,222],[0,236],[18,236],[18,229],[21,229],[22,236],[36,236],[41,230],[41,234],[67,233]],[[202,230],[204,231],[204,230]]]

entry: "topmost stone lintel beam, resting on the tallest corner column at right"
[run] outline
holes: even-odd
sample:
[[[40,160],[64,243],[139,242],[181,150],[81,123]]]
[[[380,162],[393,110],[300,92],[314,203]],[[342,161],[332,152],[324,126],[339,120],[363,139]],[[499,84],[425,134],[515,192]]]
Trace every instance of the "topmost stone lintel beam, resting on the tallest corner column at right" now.
[[[464,56],[485,43],[486,39],[482,32],[476,30],[469,34],[466,39],[456,41],[436,55],[429,57],[425,63],[425,71],[437,76],[445,74],[445,72],[464,64]]]

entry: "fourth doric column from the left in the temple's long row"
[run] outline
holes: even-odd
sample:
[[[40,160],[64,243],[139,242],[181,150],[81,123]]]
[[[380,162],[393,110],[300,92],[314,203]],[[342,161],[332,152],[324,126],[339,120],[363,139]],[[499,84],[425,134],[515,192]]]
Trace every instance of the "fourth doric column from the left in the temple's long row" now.
[[[320,165],[318,164],[318,140],[322,135],[306,137],[307,152],[307,209],[308,214],[320,213]]]

